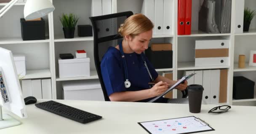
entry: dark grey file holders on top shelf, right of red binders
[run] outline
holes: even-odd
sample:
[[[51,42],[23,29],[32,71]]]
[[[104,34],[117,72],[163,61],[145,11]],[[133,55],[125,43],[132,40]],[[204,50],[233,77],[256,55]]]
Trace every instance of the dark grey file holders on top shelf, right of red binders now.
[[[231,0],[204,0],[199,11],[199,30],[206,33],[230,33]]]

